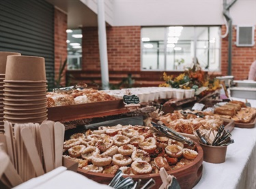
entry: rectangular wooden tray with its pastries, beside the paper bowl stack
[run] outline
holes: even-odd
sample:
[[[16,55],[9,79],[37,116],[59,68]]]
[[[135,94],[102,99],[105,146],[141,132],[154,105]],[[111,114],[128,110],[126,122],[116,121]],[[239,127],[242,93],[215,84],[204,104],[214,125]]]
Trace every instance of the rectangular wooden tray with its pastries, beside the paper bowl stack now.
[[[63,121],[126,112],[122,99],[85,88],[68,92],[47,92],[48,120]]]

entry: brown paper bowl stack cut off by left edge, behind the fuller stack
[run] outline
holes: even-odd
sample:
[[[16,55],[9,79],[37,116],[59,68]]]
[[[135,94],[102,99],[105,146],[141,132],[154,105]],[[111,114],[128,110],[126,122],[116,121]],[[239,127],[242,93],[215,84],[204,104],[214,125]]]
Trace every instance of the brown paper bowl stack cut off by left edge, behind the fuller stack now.
[[[20,55],[20,53],[0,52],[0,132],[3,132],[3,80],[5,80],[6,59],[9,55]]]

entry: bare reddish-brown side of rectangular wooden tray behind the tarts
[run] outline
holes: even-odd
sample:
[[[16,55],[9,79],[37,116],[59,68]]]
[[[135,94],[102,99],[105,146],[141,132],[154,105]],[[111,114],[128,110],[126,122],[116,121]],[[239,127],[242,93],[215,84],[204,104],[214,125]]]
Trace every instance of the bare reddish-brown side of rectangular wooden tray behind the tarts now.
[[[128,110],[124,107],[122,99],[115,101],[103,101],[97,103],[85,103],[79,105],[63,105],[47,107],[48,120],[69,121],[97,116],[109,116],[122,114]]]

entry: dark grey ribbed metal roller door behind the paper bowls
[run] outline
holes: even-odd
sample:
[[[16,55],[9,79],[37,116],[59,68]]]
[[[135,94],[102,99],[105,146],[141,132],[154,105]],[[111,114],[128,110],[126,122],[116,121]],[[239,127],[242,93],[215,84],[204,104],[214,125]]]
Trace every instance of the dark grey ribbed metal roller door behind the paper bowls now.
[[[44,0],[1,0],[0,51],[44,57],[48,88],[53,88],[53,5]]]

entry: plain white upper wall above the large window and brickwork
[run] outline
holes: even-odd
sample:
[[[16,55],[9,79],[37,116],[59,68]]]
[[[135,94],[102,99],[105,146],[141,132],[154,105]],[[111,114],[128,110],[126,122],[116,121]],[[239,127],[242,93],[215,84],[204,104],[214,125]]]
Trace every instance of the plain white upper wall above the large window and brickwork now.
[[[229,0],[228,0],[229,1]],[[113,26],[221,25],[223,0],[115,0]],[[256,24],[256,1],[238,0],[233,24]]]

